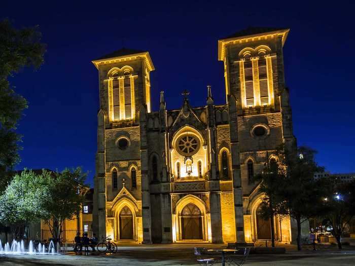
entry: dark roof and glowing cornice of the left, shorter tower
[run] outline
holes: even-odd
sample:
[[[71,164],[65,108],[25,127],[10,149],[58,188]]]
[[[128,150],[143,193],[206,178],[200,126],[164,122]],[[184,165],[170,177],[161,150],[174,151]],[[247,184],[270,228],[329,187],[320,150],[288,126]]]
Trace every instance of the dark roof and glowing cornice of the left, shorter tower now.
[[[95,67],[98,69],[99,65],[118,63],[129,60],[143,59],[148,66],[149,71],[154,70],[154,65],[152,59],[148,52],[134,49],[121,48],[110,54],[101,56],[93,61],[91,61]]]

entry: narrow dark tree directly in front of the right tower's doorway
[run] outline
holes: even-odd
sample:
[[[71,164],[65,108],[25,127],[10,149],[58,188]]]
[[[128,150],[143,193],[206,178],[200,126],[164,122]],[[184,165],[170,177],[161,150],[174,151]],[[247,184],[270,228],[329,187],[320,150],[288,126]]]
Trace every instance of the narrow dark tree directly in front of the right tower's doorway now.
[[[267,163],[264,170],[254,177],[255,181],[259,181],[259,191],[264,195],[260,208],[260,215],[265,219],[270,219],[271,226],[271,246],[275,247],[275,226],[274,217],[280,213],[285,199],[282,197],[280,188],[285,182],[285,172],[283,167],[272,158],[269,160],[267,153]]]

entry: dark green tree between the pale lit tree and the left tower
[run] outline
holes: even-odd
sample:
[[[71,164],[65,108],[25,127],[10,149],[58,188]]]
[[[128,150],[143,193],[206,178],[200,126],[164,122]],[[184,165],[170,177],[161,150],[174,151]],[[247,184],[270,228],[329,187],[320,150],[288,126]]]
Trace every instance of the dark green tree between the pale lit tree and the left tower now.
[[[79,214],[86,187],[86,174],[80,167],[73,171],[65,169],[62,172],[50,174],[44,171],[41,185],[47,187],[42,199],[41,218],[48,225],[55,240],[61,238],[62,226],[65,219],[73,219]]]

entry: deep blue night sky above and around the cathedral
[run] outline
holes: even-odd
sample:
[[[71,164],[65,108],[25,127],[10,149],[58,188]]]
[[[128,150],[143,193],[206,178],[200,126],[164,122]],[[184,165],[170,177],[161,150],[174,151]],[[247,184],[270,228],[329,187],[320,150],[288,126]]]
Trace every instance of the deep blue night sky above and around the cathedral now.
[[[33,4],[37,3],[37,4]],[[225,102],[217,40],[248,26],[289,27],[286,83],[299,145],[318,150],[332,173],[355,172],[355,23],[351,2],[263,1],[3,1],[0,18],[17,27],[39,25],[47,44],[39,71],[11,79],[29,102],[18,132],[24,167],[95,172],[98,74],[91,60],[122,47],[149,51],[153,109],[165,91],[180,108],[188,89],[205,105],[206,85]],[[175,3],[175,4],[171,4]]]

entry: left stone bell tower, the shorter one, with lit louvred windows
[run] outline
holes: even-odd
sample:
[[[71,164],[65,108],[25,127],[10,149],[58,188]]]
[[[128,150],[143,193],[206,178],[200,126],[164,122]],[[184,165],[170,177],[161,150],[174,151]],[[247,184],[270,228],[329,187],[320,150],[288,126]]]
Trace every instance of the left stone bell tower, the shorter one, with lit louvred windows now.
[[[100,96],[94,232],[151,242],[146,116],[154,66],[148,52],[130,49],[92,63],[98,69]]]

